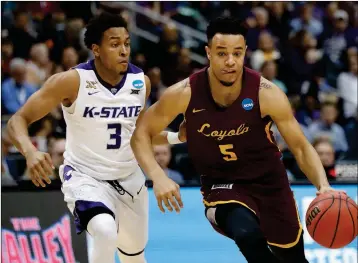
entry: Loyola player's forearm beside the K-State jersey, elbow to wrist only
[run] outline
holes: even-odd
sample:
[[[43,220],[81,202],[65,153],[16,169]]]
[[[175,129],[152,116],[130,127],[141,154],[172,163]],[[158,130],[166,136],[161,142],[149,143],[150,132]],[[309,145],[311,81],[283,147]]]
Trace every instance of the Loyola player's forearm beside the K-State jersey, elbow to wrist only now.
[[[161,168],[154,157],[152,136],[137,128],[131,138],[131,147],[145,175],[154,181],[155,176],[161,174],[156,171],[160,171]]]

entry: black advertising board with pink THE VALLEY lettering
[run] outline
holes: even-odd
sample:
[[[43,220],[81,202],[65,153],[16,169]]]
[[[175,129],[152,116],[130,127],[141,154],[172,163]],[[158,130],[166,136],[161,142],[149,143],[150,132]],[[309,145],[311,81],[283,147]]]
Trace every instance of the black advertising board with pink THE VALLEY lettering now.
[[[1,262],[88,262],[60,191],[2,192],[1,205]]]

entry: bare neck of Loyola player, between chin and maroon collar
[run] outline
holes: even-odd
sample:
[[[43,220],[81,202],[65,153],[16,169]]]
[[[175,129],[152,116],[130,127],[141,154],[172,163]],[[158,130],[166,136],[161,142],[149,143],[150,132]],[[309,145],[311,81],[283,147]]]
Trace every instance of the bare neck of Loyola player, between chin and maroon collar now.
[[[242,88],[242,73],[230,87],[221,84],[210,68],[208,70],[208,76],[211,96],[218,105],[228,107],[240,96]]]

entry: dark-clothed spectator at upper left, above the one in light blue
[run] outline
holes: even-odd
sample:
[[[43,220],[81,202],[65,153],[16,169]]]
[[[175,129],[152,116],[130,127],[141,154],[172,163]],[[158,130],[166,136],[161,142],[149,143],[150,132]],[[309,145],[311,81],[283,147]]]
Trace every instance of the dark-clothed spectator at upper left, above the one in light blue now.
[[[9,29],[9,39],[14,45],[14,57],[27,59],[36,39],[29,33],[29,16],[26,12],[15,13],[15,23]]]

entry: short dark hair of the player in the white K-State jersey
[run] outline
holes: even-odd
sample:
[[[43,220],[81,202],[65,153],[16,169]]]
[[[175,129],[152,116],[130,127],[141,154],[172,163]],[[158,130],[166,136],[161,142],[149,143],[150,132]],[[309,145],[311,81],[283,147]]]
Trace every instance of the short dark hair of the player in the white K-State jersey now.
[[[91,49],[93,44],[99,45],[102,41],[103,33],[112,27],[124,27],[127,29],[127,22],[123,17],[108,12],[103,12],[93,17],[86,26],[84,37],[86,47]]]

